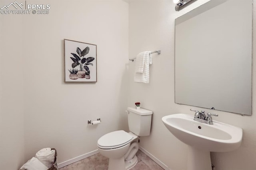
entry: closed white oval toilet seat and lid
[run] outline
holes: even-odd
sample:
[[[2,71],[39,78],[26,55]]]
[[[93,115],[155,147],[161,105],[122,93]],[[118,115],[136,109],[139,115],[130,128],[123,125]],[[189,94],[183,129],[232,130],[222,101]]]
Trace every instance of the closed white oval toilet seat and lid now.
[[[105,134],[98,140],[98,147],[101,149],[114,149],[129,144],[132,136],[124,130],[118,130]]]

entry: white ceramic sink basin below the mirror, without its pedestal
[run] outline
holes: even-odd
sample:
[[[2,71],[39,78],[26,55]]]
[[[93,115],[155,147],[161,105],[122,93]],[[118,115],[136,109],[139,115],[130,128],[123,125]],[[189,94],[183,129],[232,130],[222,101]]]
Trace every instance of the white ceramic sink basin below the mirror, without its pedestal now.
[[[213,124],[193,120],[188,114],[164,116],[162,121],[168,130],[180,141],[210,152],[228,152],[239,148],[242,129],[213,121]]]

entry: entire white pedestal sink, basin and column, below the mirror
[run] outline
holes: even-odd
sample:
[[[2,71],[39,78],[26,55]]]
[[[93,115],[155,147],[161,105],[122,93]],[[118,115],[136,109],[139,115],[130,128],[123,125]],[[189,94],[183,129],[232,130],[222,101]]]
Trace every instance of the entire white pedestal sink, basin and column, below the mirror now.
[[[188,114],[164,116],[166,128],[188,145],[188,170],[212,170],[210,152],[229,152],[240,147],[242,129],[213,121],[206,124]]]

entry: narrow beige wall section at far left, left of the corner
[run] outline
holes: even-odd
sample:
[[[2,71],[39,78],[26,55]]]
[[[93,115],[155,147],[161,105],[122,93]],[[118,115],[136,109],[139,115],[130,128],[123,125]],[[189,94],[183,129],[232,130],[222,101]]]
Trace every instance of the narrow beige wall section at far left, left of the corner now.
[[[3,170],[15,170],[24,163],[23,46],[22,39],[16,38],[22,34],[16,27],[22,25],[21,19],[0,15],[0,169]]]

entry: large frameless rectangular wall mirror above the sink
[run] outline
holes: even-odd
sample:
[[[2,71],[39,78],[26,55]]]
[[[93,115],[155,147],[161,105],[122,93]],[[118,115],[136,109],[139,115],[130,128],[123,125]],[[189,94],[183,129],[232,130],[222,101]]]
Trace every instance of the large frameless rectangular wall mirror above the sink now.
[[[252,0],[210,0],[175,20],[175,103],[252,114]]]

